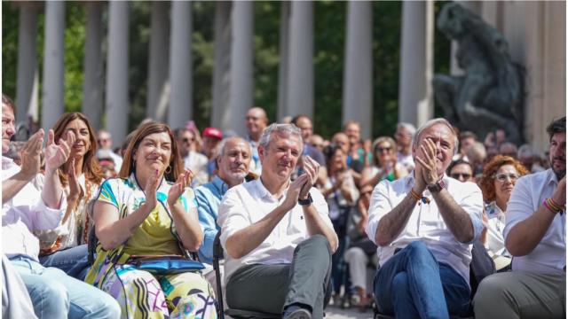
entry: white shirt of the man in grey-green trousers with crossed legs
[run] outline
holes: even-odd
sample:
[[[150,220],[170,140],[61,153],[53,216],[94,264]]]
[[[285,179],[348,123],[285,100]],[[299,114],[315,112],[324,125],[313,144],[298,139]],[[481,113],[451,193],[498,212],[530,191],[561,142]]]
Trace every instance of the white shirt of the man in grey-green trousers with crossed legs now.
[[[333,230],[333,225],[327,216],[327,202],[323,195],[315,188],[310,190],[310,194],[313,199],[312,205],[318,211],[319,216],[327,227]],[[285,198],[286,193],[280,199],[272,196],[260,179],[242,183],[227,191],[221,206],[219,206],[219,217],[217,219],[217,223],[221,227],[221,245],[223,245],[223,248],[226,250],[228,237],[263,219],[277,206],[280,206]],[[296,205],[280,220],[270,235],[246,256],[233,259],[225,252],[225,283],[229,281],[235,270],[244,265],[291,263],[296,245],[302,243],[308,237],[310,236],[306,229],[304,209],[302,206]]]

